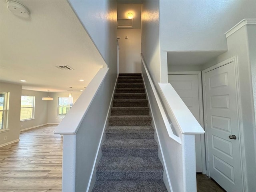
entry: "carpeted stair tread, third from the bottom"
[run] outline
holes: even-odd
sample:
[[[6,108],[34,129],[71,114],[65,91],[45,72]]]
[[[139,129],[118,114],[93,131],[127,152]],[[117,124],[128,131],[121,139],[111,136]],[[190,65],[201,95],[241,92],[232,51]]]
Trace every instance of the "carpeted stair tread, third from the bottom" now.
[[[158,149],[154,139],[106,139],[102,149]]]

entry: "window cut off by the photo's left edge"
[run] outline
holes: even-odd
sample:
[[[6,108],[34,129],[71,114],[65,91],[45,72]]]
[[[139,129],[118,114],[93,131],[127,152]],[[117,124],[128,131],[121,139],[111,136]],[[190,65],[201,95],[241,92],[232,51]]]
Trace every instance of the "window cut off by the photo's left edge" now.
[[[7,93],[0,92],[0,129],[6,128]]]

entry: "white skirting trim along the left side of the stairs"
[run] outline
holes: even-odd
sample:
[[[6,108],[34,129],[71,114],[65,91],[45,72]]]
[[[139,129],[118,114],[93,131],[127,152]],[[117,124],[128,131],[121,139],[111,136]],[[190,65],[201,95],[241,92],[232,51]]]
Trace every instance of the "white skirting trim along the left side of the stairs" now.
[[[118,80],[118,76],[116,77],[116,83],[117,83],[117,80]],[[91,184],[91,181],[92,181],[92,176],[93,176],[93,174],[94,174],[94,169],[95,169],[95,167],[96,167],[96,163],[97,163],[97,159],[98,159],[98,154],[99,154],[99,151],[100,151],[100,149],[101,149],[102,138],[103,138],[103,135],[104,135],[105,130],[106,130],[106,125],[107,125],[107,123],[108,123],[108,117],[109,117],[110,110],[111,110],[111,106],[112,106],[112,100],[113,100],[113,98],[114,98],[114,93],[115,93],[115,91],[116,91],[116,83],[115,83],[115,87],[114,87],[114,90],[113,90],[113,93],[112,93],[112,97],[111,97],[111,100],[110,100],[110,104],[109,104],[109,107],[108,107],[108,114],[107,114],[107,116],[106,116],[104,128],[103,128],[103,130],[102,130],[102,134],[101,134],[101,137],[100,137],[100,142],[99,142],[98,149],[97,149],[97,152],[96,152],[96,155],[95,155],[94,163],[93,163],[93,166],[92,166],[92,172],[91,172],[91,175],[90,175],[90,179],[89,179],[89,182],[88,182],[88,185],[87,185],[86,192],[89,192],[89,190],[90,190],[90,184]]]

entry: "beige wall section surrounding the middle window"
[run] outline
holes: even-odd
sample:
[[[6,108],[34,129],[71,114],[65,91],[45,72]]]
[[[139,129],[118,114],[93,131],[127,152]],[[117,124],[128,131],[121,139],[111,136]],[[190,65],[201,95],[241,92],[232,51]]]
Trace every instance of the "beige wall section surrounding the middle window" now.
[[[34,119],[20,122],[20,130],[47,124],[48,103],[42,97],[47,97],[47,92],[22,89],[22,96],[35,96]]]

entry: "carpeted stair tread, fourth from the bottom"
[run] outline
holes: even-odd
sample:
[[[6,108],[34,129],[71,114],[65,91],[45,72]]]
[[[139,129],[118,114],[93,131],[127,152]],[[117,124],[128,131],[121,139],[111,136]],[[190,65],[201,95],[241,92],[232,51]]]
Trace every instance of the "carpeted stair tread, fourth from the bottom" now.
[[[154,133],[152,126],[108,126],[106,133]]]

